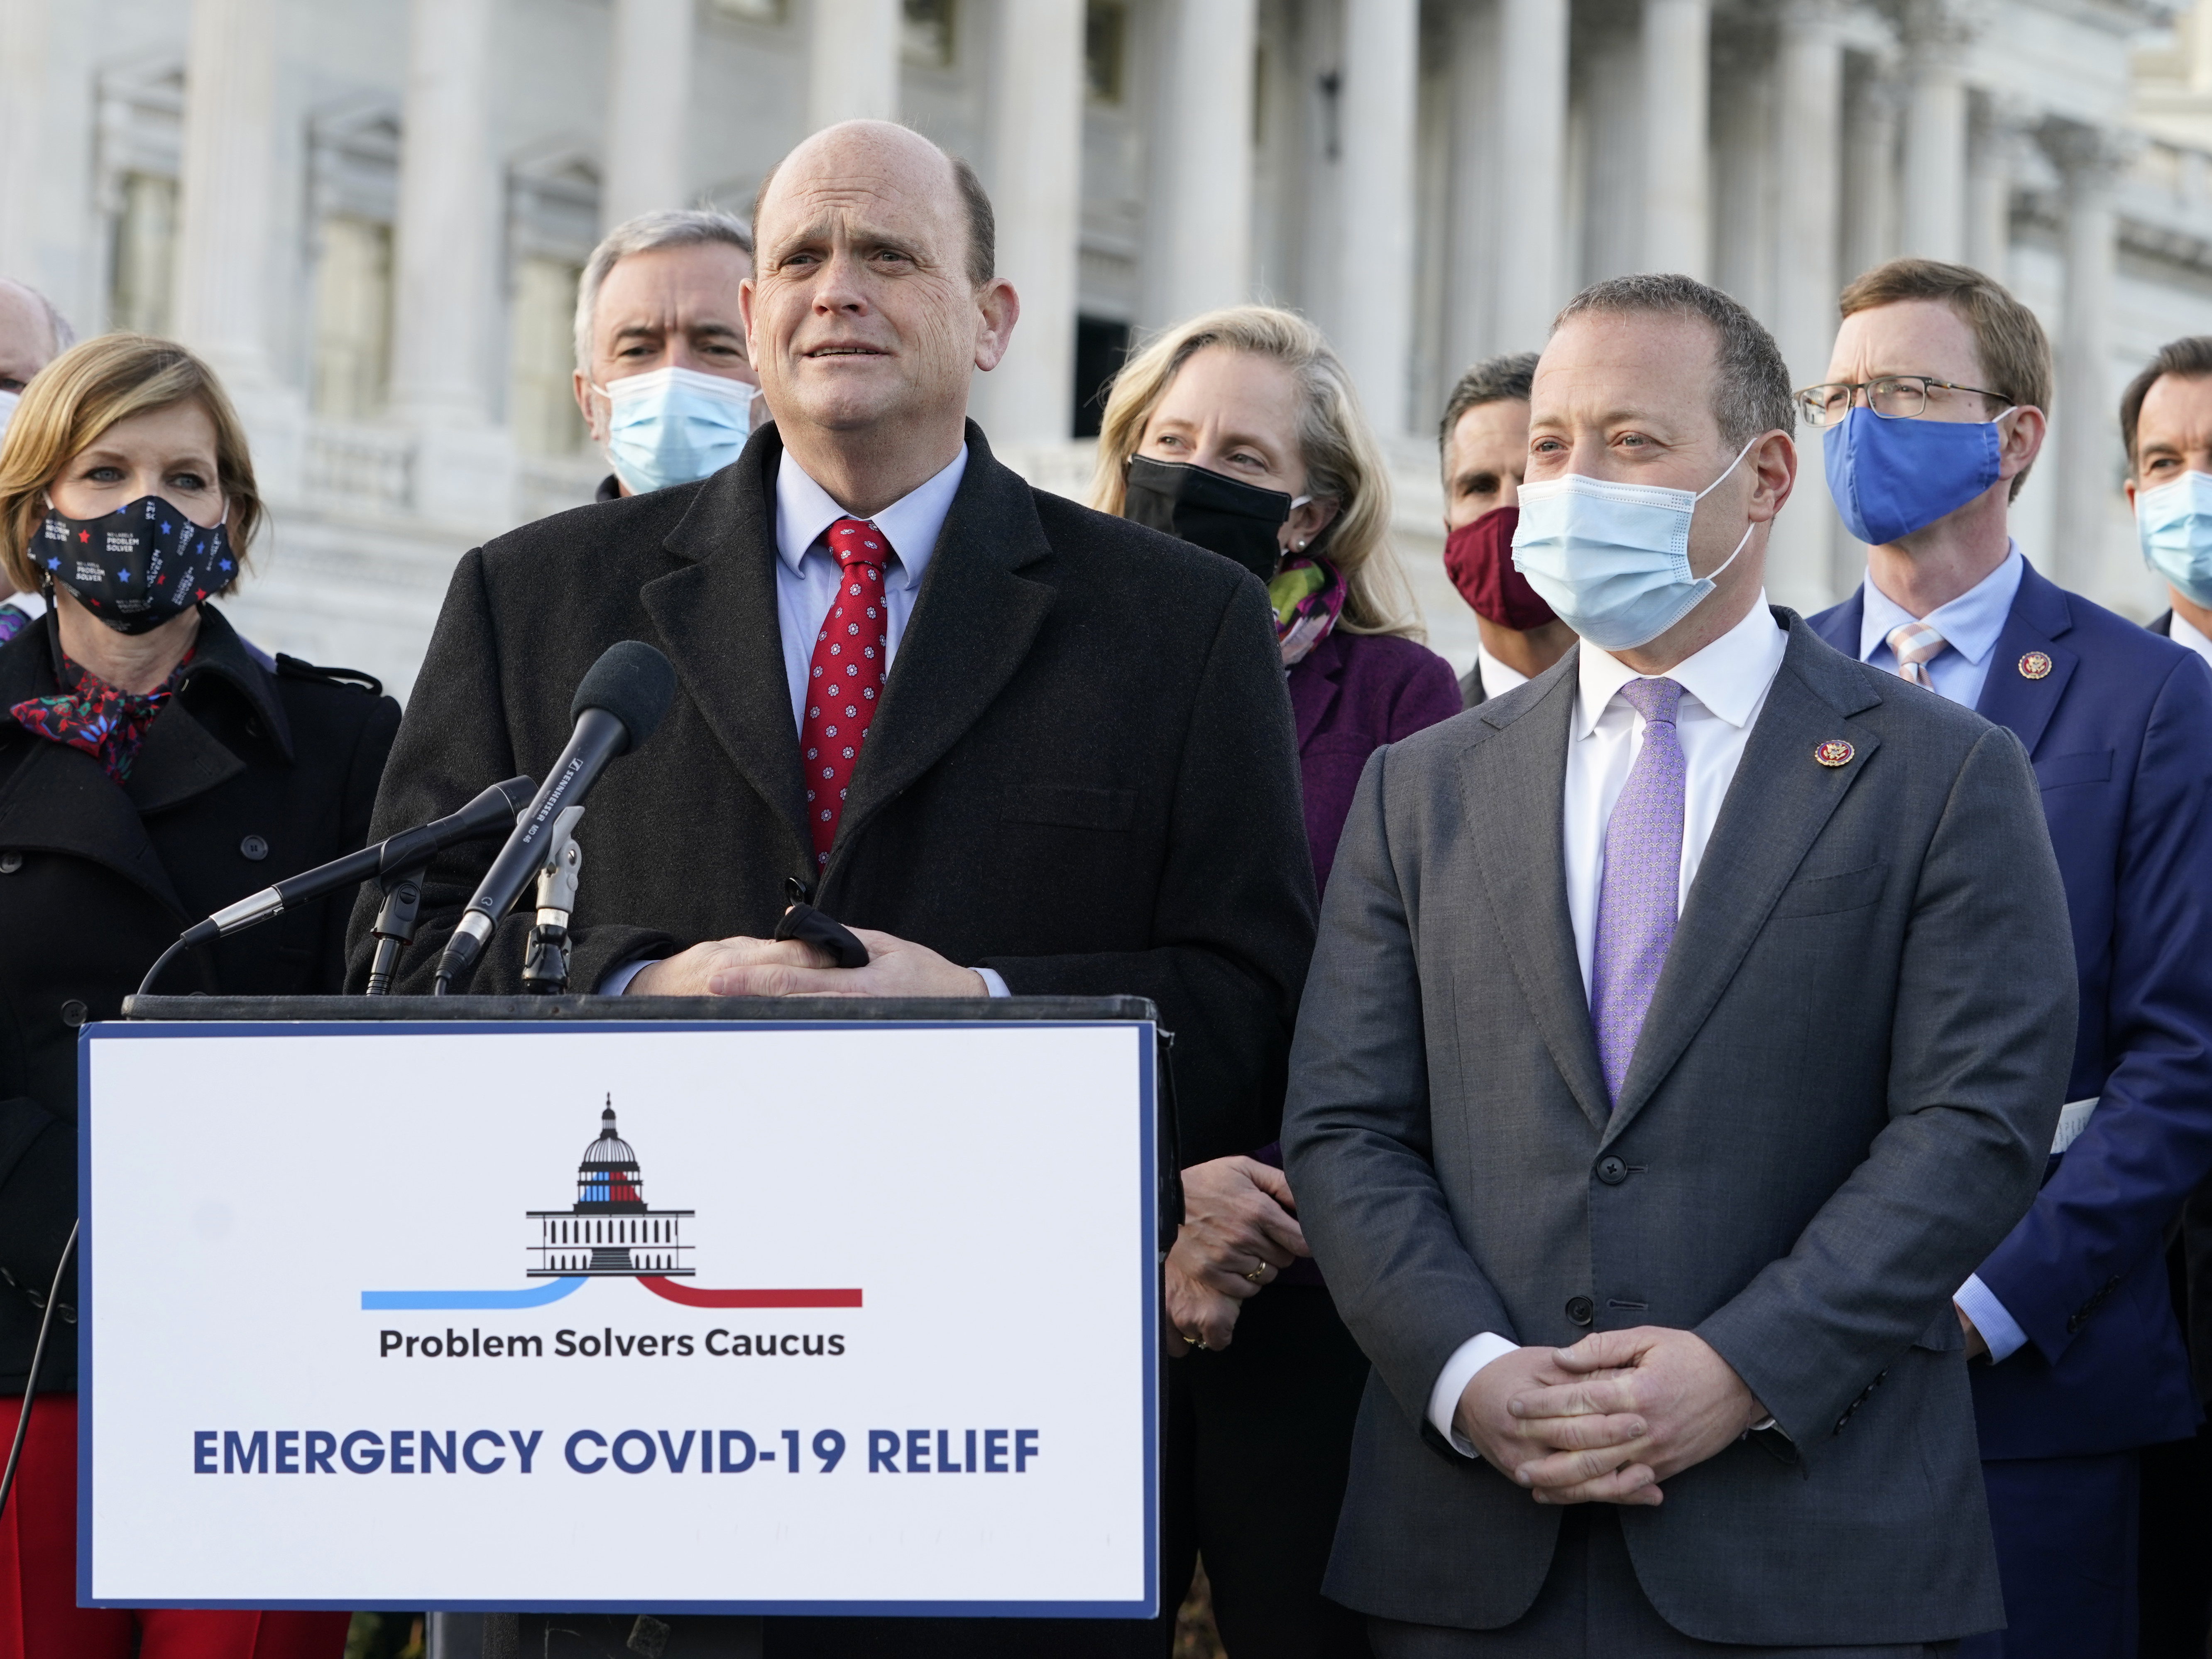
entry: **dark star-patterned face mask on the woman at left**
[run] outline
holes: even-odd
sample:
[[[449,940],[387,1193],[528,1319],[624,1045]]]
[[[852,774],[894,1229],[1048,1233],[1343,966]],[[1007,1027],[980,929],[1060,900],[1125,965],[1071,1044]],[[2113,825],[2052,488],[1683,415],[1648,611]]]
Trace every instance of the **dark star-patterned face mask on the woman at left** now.
[[[115,633],[159,628],[228,588],[239,568],[221,524],[195,524],[159,495],[100,518],[62,518],[49,507],[31,557]]]

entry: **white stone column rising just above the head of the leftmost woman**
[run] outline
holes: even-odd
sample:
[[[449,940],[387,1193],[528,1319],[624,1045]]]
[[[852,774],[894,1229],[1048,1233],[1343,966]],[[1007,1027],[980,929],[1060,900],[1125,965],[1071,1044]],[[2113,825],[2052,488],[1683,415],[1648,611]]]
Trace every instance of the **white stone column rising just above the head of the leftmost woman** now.
[[[272,387],[276,0],[192,0],[177,204],[177,338],[232,392]]]

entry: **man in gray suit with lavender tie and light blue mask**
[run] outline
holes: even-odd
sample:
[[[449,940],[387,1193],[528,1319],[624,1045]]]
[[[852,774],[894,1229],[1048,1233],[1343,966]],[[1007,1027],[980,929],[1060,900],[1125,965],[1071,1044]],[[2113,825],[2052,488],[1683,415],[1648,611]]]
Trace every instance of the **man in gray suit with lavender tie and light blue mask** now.
[[[2011,732],[1763,593],[1790,378],[1688,276],[1535,376],[1555,668],[1367,763],[1292,1053],[1374,1360],[1327,1593],[1400,1655],[1918,1650],[2002,1624],[1951,1292],[2073,1048]]]

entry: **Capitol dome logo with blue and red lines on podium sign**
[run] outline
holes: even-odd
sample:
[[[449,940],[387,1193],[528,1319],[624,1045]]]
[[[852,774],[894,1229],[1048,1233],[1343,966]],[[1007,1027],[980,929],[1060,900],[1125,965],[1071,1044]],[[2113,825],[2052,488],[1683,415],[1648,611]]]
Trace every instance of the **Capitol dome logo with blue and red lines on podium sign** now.
[[[571,1141],[573,1146],[573,1141]],[[615,1124],[615,1097],[599,1110],[599,1137],[575,1166],[575,1203],[566,1210],[526,1210],[538,1243],[526,1290],[365,1290],[363,1312],[544,1307],[573,1296],[593,1279],[633,1279],[684,1307],[858,1307],[858,1290],[708,1290],[695,1276],[692,1245],[684,1241],[692,1210],[655,1210],[637,1152]]]

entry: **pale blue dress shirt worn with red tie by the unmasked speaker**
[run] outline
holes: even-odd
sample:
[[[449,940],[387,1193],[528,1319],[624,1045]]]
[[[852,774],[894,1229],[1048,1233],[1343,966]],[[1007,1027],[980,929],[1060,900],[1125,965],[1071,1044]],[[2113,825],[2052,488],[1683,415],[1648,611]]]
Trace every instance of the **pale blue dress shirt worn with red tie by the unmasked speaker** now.
[[[891,677],[898,641],[914,615],[914,597],[938,551],[938,533],[967,473],[967,445],[945,471],[876,513],[874,524],[891,544],[891,564],[883,573],[885,650],[883,675]],[[783,635],[783,677],[792,686],[792,730],[805,730],[807,668],[814,664],[814,635],[836,599],[838,562],[830,553],[827,533],[849,518],[830,491],[807,478],[785,449],[776,462],[776,630]],[[659,958],[653,958],[659,960]],[[624,962],[604,980],[599,995],[619,998],[653,960]],[[991,969],[975,969],[991,995],[1009,995],[1006,980]]]

